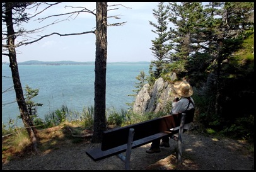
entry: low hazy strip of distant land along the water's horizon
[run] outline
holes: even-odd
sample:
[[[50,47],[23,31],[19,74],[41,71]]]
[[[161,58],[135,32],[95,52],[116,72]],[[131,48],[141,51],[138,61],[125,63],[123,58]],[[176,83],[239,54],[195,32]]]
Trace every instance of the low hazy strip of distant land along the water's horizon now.
[[[9,65],[9,62],[4,63]],[[107,64],[150,64],[150,62],[107,62]],[[95,65],[95,62],[74,62],[74,61],[56,61],[56,62],[43,62],[38,60],[29,60],[26,62],[18,62],[18,65]]]

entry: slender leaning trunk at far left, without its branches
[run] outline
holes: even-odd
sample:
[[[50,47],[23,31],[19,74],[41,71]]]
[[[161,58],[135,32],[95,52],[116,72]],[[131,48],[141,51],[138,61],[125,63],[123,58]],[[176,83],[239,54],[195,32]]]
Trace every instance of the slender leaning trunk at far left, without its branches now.
[[[26,108],[25,98],[23,96],[23,89],[20,82],[20,75],[18,71],[18,63],[16,60],[16,50],[15,50],[15,31],[13,28],[13,5],[12,3],[6,2],[6,26],[7,26],[7,44],[8,44],[8,52],[9,52],[9,67],[11,68],[11,74],[13,77],[13,86],[16,93],[16,101],[20,108],[20,116],[26,127],[26,131],[30,136],[30,140],[32,142],[33,148],[36,152],[37,150],[37,130],[33,126],[33,122],[28,115],[28,109]]]

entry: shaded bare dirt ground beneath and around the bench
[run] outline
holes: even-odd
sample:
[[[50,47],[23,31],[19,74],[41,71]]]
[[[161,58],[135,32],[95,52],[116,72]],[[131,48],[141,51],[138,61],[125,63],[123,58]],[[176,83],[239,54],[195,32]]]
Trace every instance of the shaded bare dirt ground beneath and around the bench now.
[[[86,150],[100,147],[90,139],[74,144],[66,142],[42,154],[24,155],[3,161],[2,170],[123,170],[125,164],[117,156],[93,161]],[[254,147],[240,140],[217,139],[194,130],[182,137],[182,164],[177,164],[177,142],[170,139],[170,147],[161,152],[147,154],[146,144],[132,149],[132,170],[254,170]],[[252,150],[253,149],[253,150]]]

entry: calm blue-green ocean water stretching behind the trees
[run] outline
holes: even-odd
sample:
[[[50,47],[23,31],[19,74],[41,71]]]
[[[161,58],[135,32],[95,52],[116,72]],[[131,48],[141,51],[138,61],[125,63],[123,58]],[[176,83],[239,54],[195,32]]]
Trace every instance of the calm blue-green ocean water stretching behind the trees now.
[[[26,84],[32,89],[39,89],[38,96],[32,100],[43,103],[38,106],[38,117],[54,112],[62,105],[69,110],[82,112],[83,108],[94,106],[94,65],[61,65],[61,66],[18,66],[23,94]],[[144,71],[148,75],[149,63],[108,63],[106,77],[106,108],[117,111],[127,110],[125,103],[134,101],[132,90],[138,83],[136,76]],[[6,91],[8,90],[8,91]],[[14,102],[14,103],[12,103]],[[2,123],[9,118],[17,120],[20,115],[16,103],[11,69],[2,65]],[[18,125],[22,126],[21,120]]]

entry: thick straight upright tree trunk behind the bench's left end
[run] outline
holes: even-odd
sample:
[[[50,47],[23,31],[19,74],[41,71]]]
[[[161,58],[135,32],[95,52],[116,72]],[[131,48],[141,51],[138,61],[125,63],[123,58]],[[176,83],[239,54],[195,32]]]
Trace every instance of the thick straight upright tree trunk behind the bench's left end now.
[[[91,142],[102,142],[106,130],[107,2],[96,2],[95,113]]]

